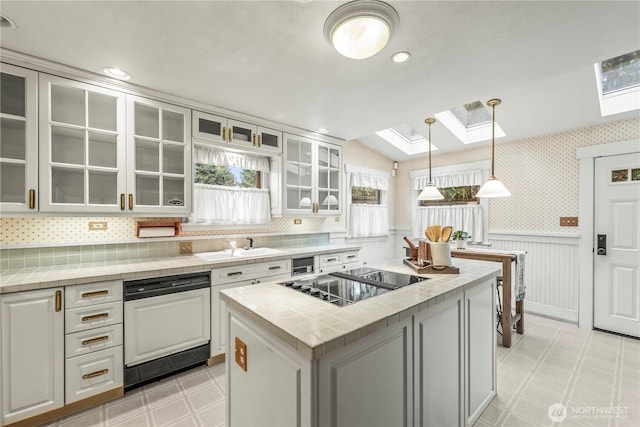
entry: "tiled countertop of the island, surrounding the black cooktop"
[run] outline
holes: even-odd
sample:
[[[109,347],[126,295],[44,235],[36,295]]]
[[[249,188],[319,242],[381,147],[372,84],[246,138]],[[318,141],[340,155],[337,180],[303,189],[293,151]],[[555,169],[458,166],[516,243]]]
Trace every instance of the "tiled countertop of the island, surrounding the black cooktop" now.
[[[500,274],[493,263],[456,259],[460,274],[425,274],[429,280],[344,307],[312,298],[277,283],[220,291],[241,314],[293,347],[306,359],[325,354],[387,328],[425,308]],[[402,260],[375,268],[415,274]]]

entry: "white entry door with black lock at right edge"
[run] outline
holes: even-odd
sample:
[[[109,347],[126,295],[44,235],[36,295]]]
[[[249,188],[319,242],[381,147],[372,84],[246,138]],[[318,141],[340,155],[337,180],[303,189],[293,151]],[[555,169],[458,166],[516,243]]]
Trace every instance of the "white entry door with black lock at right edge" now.
[[[640,153],[595,166],[594,326],[640,337]]]

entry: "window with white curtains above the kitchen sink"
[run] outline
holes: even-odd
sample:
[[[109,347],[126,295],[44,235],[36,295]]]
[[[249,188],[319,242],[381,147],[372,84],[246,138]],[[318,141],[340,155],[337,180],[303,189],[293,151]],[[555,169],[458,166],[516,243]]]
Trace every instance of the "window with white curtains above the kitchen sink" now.
[[[194,208],[190,222],[224,226],[268,225],[269,158],[194,146]],[[263,188],[264,187],[264,188]]]

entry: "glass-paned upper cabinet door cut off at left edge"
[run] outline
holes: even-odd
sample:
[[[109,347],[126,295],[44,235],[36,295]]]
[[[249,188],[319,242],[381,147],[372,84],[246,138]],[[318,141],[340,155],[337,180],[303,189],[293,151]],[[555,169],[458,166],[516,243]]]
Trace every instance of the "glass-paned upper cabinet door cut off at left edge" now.
[[[0,64],[0,210],[38,210],[38,73]]]

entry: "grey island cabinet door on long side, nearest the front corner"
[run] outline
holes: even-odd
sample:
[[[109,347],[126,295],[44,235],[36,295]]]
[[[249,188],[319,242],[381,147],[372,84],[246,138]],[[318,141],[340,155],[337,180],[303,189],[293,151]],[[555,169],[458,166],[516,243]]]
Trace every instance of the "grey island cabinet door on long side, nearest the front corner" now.
[[[413,425],[411,318],[318,364],[319,426]]]

